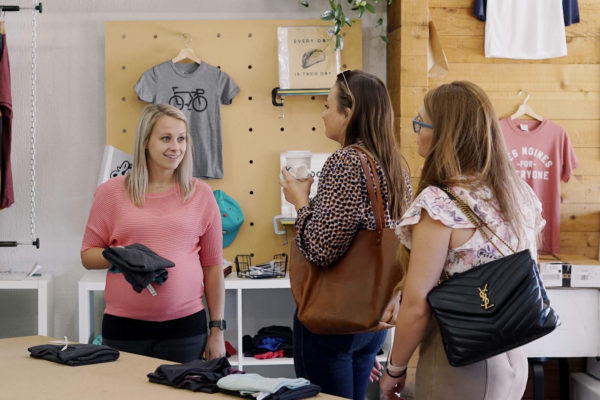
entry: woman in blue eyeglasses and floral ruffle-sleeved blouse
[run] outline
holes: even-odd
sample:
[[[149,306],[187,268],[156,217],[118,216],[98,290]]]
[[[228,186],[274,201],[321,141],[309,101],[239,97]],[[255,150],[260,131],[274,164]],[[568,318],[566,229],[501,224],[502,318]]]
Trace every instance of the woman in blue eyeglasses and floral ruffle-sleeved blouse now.
[[[396,228],[408,271],[380,381],[383,398],[398,398],[408,361],[420,345],[416,399],[520,399],[528,373],[521,348],[464,367],[452,367],[446,358],[427,294],[440,279],[502,254],[438,185],[448,186],[491,231],[517,251],[529,249],[534,259],[545,223],[541,204],[512,168],[492,103],[475,84],[452,82],[427,92],[413,129],[425,163],[416,198]],[[511,253],[490,236],[502,252]]]

